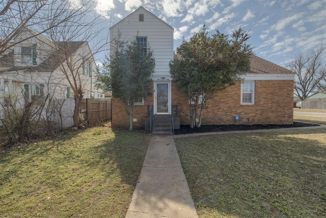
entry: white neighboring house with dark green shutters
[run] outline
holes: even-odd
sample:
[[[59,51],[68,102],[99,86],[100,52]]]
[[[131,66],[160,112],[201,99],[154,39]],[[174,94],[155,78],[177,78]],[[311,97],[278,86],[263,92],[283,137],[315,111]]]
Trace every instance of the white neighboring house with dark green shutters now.
[[[69,71],[70,74],[82,72],[76,82],[83,87],[84,98],[104,98],[102,91],[94,87],[97,67],[88,42],[51,42],[24,29],[13,43],[13,49],[0,56],[0,118],[3,117],[1,106],[6,107],[9,95],[21,96],[20,103],[23,96],[33,100],[40,95],[51,96],[53,101],[73,100],[72,87],[63,73],[67,62],[55,51],[69,53],[75,65],[75,71]]]

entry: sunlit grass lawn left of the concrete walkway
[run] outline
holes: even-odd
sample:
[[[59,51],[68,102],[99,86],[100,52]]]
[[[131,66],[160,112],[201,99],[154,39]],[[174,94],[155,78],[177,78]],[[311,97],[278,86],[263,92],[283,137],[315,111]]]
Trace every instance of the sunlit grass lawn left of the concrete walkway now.
[[[1,217],[124,217],[150,137],[95,127],[0,153]]]

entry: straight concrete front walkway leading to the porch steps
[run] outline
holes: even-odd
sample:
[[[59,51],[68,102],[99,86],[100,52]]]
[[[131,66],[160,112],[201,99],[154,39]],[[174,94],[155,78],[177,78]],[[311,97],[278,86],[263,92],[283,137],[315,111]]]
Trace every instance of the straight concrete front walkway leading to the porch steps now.
[[[152,135],[126,217],[198,217],[172,136]]]

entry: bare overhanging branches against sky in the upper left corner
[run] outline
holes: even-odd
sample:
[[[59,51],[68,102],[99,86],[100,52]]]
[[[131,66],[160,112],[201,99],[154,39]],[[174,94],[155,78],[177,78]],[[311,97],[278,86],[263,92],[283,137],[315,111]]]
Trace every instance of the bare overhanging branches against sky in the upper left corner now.
[[[35,36],[13,42],[24,28],[41,35],[84,13],[81,7],[72,7],[72,3],[67,0],[0,0],[0,55],[9,53],[16,44]]]

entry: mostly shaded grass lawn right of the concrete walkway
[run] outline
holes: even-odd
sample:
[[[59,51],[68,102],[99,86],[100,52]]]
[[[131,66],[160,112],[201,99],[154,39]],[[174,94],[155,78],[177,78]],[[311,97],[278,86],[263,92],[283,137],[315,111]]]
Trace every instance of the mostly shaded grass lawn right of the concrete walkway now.
[[[175,139],[200,217],[325,217],[326,129]]]

